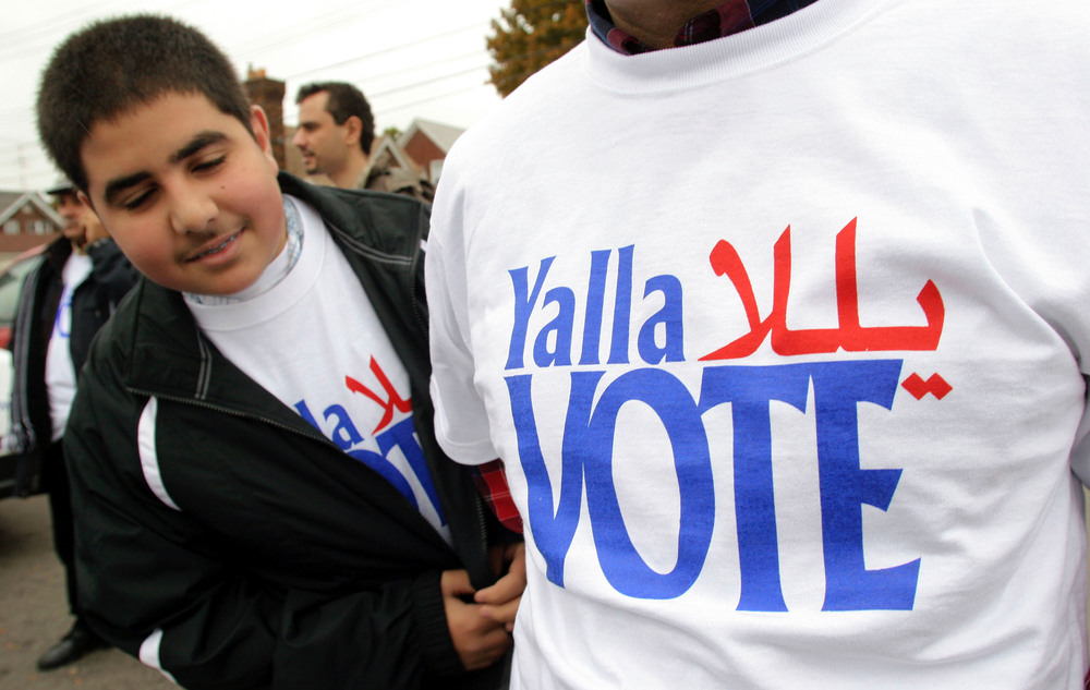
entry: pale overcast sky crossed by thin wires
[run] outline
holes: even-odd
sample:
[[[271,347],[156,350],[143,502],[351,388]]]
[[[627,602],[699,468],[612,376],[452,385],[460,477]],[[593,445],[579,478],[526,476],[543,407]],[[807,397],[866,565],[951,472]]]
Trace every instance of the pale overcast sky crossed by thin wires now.
[[[363,89],[378,131],[414,118],[469,126],[499,102],[486,83],[489,20],[509,0],[0,0],[0,190],[48,186],[56,169],[38,146],[34,99],[58,43],[101,17],[154,12],[204,31],[241,77],[264,69],[294,92],[341,80]]]

